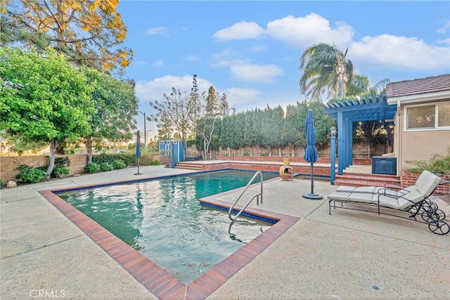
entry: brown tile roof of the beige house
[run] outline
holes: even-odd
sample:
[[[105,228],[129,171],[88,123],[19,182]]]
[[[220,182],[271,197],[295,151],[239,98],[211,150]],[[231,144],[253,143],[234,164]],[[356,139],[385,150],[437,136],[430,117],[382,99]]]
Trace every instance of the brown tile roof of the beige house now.
[[[450,91],[450,74],[390,82],[386,85],[387,98],[436,93],[439,91]]]

